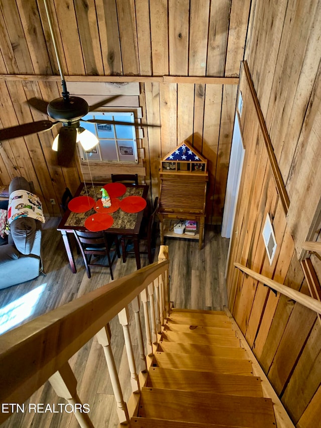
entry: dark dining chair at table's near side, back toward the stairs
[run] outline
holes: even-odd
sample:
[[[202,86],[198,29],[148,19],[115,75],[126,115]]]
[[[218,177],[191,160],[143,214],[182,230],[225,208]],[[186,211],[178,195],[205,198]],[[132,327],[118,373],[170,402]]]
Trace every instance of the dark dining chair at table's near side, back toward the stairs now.
[[[88,278],[91,277],[89,266],[104,266],[109,267],[111,279],[114,279],[112,273],[112,264],[116,258],[120,257],[118,237],[114,234],[102,232],[89,232],[82,230],[74,230],[76,241],[79,245],[81,254],[84,259]],[[91,262],[92,256],[107,256],[108,264]]]

